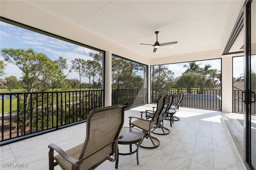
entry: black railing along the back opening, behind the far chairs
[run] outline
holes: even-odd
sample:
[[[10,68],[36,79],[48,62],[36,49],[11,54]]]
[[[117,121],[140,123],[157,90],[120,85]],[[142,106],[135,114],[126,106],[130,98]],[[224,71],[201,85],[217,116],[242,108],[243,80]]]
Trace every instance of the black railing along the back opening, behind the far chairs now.
[[[182,107],[221,111],[221,90],[151,89],[151,102],[156,103],[157,98],[161,95],[170,95],[174,93],[174,103],[177,103],[179,95],[182,92],[186,92],[182,100]]]

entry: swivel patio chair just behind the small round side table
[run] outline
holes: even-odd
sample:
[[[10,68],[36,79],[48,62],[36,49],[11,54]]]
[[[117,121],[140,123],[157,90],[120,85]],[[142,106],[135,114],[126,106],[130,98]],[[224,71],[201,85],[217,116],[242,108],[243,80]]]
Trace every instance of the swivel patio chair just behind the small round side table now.
[[[142,143],[140,144],[140,147],[142,148],[157,148],[160,145],[160,141],[158,140],[158,138],[151,136],[151,128],[153,128],[155,125],[158,124],[158,117],[161,116],[162,110],[164,108],[164,102],[165,102],[165,96],[161,96],[158,98],[157,100],[157,109],[154,113],[148,113],[148,112],[141,112],[141,113],[148,113],[148,114],[152,114],[152,118],[140,118],[140,117],[129,117],[130,118],[130,127],[138,127],[140,129],[142,129],[143,133],[144,133],[144,138],[149,138],[150,141],[152,142],[153,146],[151,145],[146,145],[143,144],[143,140]],[[132,122],[132,119],[137,119],[135,121]]]

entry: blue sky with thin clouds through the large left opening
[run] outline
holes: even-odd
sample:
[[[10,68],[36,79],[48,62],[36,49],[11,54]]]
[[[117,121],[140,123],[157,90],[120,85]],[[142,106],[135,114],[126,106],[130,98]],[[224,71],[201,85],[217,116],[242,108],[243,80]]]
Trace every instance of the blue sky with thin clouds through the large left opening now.
[[[72,43],[68,43],[56,38],[45,36],[43,34],[38,34],[30,30],[19,28],[17,26],[12,26],[4,22],[0,22],[0,47],[3,48],[21,48],[28,49],[32,48],[37,53],[44,53],[51,60],[55,61],[60,56],[67,59],[67,64],[70,66],[71,61],[75,58],[93,59],[89,56],[92,53],[98,53],[92,49],[86,47],[81,47]],[[1,59],[3,59],[1,55]],[[19,71],[16,65],[10,65],[6,63],[4,72],[6,73],[1,78],[8,77],[11,75],[16,76],[18,79],[22,77],[22,72]],[[68,69],[64,73],[68,73]],[[78,73],[72,71],[68,79],[79,79]],[[86,78],[82,80],[85,82]]]

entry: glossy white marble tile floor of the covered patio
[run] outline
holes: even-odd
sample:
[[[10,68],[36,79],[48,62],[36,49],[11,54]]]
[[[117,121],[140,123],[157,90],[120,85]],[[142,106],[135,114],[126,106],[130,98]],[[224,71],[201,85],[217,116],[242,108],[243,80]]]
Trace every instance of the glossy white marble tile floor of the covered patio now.
[[[129,126],[129,116],[140,117],[140,111],[152,110],[152,104],[125,111],[124,127]],[[180,121],[164,127],[170,134],[156,135],[160,146],[154,149],[139,148],[136,154],[120,156],[119,170],[244,170],[236,149],[230,142],[221,122],[220,111],[181,107],[176,113]],[[1,170],[47,170],[48,144],[55,143],[63,150],[72,148],[85,139],[86,123],[64,128],[0,147]],[[146,139],[145,139],[146,140]],[[146,142],[146,141],[145,141]],[[128,145],[119,145],[120,152],[127,152]],[[5,164],[23,164],[24,167],[5,167]],[[60,169],[59,166],[56,167]],[[115,162],[105,161],[98,170],[114,170]]]

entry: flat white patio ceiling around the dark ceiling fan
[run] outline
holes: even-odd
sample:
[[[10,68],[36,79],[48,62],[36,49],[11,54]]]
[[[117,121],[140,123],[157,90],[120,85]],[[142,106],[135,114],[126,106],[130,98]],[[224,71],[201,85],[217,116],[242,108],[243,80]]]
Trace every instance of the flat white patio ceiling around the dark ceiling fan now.
[[[34,0],[54,16],[148,58],[220,49],[230,0]],[[161,46],[153,53],[155,31]],[[173,48],[170,48],[173,47]]]

